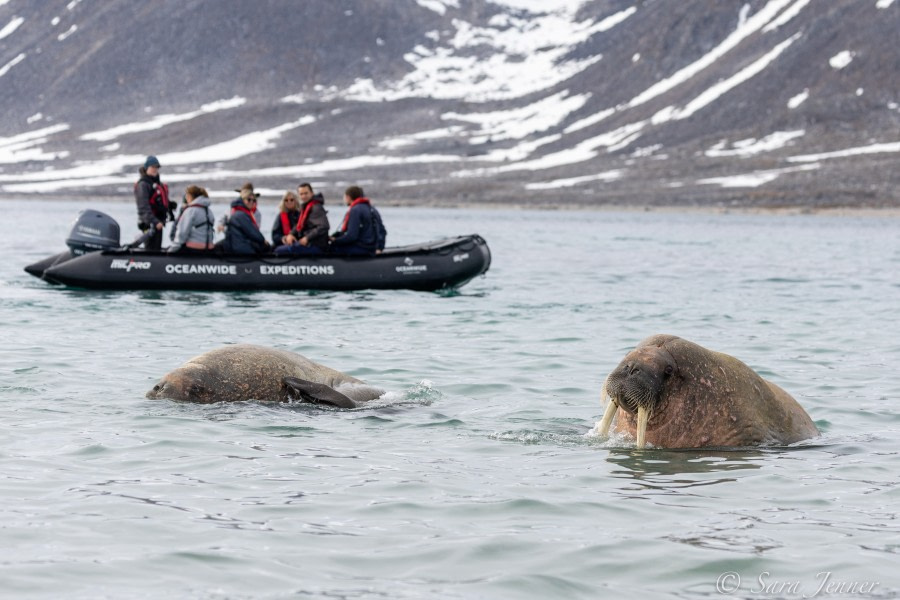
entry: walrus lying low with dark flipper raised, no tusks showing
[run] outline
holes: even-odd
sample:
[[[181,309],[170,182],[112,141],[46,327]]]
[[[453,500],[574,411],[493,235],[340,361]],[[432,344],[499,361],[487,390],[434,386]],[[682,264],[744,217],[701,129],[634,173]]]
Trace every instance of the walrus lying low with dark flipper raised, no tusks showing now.
[[[384,390],[293,352],[235,344],[195,356],[166,374],[147,398],[186,402],[299,400],[355,408]]]

